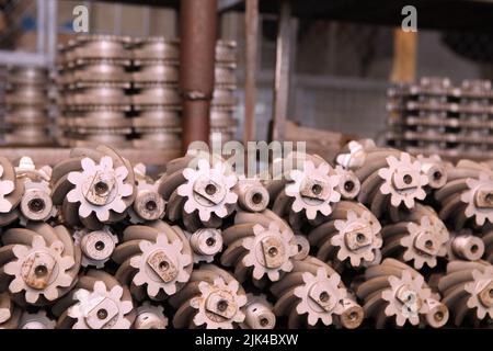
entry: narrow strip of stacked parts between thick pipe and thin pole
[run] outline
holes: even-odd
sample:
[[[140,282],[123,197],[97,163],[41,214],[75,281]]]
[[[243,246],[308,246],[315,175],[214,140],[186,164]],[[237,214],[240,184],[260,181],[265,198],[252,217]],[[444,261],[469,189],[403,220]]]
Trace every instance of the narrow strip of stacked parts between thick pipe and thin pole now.
[[[218,41],[216,44],[215,89],[210,105],[210,133],[220,133],[222,141],[234,139],[237,121],[237,43]]]

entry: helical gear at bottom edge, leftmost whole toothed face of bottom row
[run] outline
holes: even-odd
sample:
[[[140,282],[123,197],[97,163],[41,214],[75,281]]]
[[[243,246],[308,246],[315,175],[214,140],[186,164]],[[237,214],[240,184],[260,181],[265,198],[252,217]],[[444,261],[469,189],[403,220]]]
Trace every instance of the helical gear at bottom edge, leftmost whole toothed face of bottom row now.
[[[136,319],[128,287],[100,270],[82,274],[51,310],[57,329],[129,329]]]

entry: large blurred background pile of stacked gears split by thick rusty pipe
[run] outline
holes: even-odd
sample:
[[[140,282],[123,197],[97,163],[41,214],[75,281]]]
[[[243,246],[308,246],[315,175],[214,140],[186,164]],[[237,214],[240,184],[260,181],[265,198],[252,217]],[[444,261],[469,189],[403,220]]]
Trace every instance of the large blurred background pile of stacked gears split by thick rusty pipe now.
[[[211,133],[234,137],[234,42],[218,41]],[[180,42],[80,35],[59,46],[58,141],[62,146],[181,147]]]

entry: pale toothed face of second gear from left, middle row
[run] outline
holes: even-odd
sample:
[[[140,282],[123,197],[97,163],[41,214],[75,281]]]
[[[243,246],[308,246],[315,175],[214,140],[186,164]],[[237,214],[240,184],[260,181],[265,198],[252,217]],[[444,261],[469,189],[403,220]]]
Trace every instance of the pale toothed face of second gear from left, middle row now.
[[[156,242],[141,240],[139,248],[142,253],[130,259],[130,265],[138,270],[131,282],[136,286],[147,284],[149,296],[156,297],[160,290],[173,295],[177,283],[190,280],[190,273],[184,268],[192,263],[192,257],[182,253],[181,240],[170,244],[168,237],[161,234]]]

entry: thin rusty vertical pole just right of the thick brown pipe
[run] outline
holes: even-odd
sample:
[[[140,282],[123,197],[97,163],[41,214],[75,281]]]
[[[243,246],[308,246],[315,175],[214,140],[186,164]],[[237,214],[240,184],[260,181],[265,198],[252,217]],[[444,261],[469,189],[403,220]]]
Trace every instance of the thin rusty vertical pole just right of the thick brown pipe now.
[[[259,0],[246,0],[245,73],[244,73],[244,129],[243,143],[255,139],[256,60],[259,42]]]

